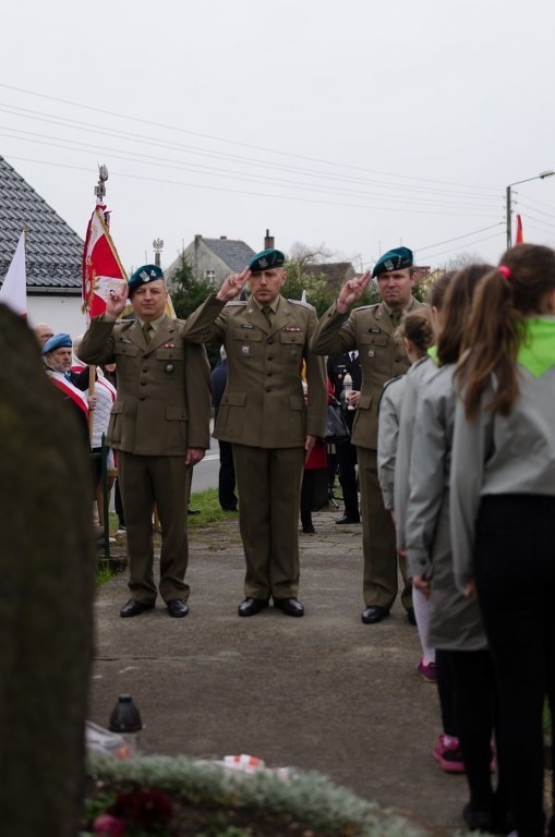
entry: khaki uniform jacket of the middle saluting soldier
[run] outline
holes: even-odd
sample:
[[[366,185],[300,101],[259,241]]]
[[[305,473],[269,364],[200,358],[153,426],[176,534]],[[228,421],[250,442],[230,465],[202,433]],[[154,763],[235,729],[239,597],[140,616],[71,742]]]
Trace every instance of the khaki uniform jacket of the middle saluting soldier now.
[[[326,428],[324,362],[309,351],[316,328],[312,305],[279,296],[272,327],[253,302],[227,304],[213,294],[188,318],[183,335],[194,342],[216,338],[226,348],[228,383],[215,436],[260,448],[304,446]],[[307,404],[302,390],[306,363]]]

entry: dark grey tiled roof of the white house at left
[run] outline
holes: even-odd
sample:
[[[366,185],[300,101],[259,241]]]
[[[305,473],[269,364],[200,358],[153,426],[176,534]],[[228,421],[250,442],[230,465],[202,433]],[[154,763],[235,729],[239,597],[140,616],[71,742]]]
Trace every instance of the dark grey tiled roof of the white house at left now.
[[[83,240],[0,157],[0,280],[13,258],[22,229],[25,239],[27,289],[34,292],[81,292]]]

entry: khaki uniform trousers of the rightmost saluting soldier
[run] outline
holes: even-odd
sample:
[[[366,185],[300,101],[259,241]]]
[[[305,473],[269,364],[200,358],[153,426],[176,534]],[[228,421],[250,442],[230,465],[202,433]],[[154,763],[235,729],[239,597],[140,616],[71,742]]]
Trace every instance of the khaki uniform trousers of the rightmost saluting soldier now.
[[[362,511],[362,551],[364,573],[362,592],[366,607],[389,610],[398,590],[397,549],[391,513],[384,508],[377,478],[377,451],[357,447]],[[412,607],[412,589],[407,580],[407,561],[399,557],[403,579],[401,602]]]

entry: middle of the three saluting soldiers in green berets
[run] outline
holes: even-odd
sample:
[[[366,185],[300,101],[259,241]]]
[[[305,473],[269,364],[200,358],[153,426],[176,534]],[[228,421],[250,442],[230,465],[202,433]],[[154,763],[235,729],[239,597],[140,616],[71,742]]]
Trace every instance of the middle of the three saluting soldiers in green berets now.
[[[228,360],[214,435],[233,446],[246,561],[239,616],[254,616],[270,598],[288,616],[304,612],[297,598],[301,482],[305,459],[325,435],[327,392],[323,359],[309,348],[316,313],[280,294],[283,263],[279,250],[257,253],[191,314],[183,330],[196,342],[217,338]],[[251,298],[233,301],[246,281]]]

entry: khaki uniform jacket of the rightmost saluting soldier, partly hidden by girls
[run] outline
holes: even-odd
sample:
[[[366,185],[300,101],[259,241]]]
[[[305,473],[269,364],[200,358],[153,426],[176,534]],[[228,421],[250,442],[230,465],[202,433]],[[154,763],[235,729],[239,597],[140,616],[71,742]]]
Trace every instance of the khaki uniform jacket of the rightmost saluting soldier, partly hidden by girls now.
[[[406,311],[422,303],[411,298]],[[377,449],[377,408],[386,380],[402,375],[410,366],[401,345],[394,341],[395,326],[383,302],[340,314],[334,303],[322,317],[312,339],[318,354],[342,354],[359,350],[362,389],[354,414],[352,442]]]

